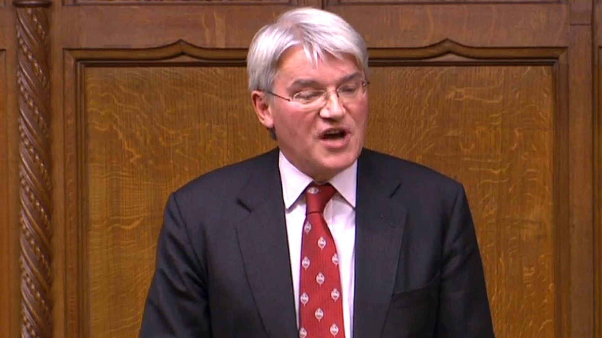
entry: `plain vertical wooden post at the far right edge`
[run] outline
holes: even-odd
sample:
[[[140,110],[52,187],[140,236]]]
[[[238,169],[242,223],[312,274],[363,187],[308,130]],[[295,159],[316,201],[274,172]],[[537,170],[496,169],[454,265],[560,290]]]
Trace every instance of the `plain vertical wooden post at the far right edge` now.
[[[577,19],[580,19],[577,16]],[[580,21],[581,22],[581,21]],[[569,203],[571,207],[569,230],[571,239],[571,298],[579,306],[571,308],[571,327],[573,336],[589,337],[594,334],[594,143],[592,135],[593,72],[591,64],[578,60],[592,59],[591,26],[571,27],[571,49],[569,69]]]

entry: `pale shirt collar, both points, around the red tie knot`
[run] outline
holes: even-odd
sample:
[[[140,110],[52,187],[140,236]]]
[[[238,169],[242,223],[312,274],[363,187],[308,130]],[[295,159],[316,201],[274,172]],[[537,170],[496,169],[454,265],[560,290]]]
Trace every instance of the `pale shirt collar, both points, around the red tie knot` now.
[[[297,201],[299,196],[313,179],[302,173],[297,167],[289,162],[282,151],[278,154],[278,167],[280,169],[280,178],[282,181],[284,206],[288,209],[295,201]],[[352,207],[355,207],[356,201],[357,174],[358,160],[355,160],[352,165],[336,174],[328,181]]]

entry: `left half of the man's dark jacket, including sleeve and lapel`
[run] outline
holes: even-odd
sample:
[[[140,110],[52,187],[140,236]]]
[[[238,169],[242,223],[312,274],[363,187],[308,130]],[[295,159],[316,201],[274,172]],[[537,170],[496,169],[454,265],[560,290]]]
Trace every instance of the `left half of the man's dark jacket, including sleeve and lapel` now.
[[[170,196],[141,337],[297,336],[279,182],[272,150]]]

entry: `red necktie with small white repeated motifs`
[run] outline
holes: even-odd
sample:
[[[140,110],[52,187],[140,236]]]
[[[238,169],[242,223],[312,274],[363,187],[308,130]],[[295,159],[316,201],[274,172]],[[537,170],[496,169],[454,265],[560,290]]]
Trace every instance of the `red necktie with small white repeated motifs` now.
[[[334,194],[335,188],[330,184],[312,183],[305,191],[307,209],[299,287],[300,338],[345,337],[337,246],[322,214]]]

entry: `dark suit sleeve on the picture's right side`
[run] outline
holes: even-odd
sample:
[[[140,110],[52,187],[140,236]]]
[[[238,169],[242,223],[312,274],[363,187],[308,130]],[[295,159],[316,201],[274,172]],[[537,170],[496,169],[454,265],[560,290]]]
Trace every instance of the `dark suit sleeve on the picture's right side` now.
[[[494,337],[473,219],[459,186],[443,242],[436,337]]]

